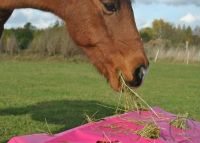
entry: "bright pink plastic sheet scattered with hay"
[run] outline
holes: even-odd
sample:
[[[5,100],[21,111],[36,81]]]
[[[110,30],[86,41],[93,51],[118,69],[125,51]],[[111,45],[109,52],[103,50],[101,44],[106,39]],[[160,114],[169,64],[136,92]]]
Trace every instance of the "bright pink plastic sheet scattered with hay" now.
[[[154,108],[160,118],[151,111],[130,112],[105,118],[53,136],[35,134],[14,137],[8,143],[200,143],[200,123],[188,120],[189,129],[181,130],[170,126],[176,116]],[[137,121],[152,122],[161,129],[159,139],[145,139],[135,131],[142,129]]]

